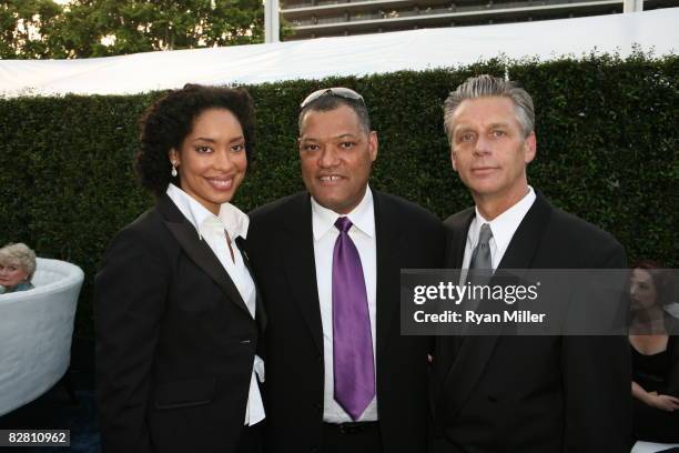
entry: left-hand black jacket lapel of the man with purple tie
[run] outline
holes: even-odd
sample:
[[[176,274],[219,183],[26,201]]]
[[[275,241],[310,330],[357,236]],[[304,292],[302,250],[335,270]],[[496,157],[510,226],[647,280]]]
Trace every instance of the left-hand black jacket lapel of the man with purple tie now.
[[[294,299],[302,311],[318,352],[323,352],[323,324],[316,283],[314,233],[312,229],[311,198],[300,194],[291,207],[283,225],[283,259],[285,273]]]

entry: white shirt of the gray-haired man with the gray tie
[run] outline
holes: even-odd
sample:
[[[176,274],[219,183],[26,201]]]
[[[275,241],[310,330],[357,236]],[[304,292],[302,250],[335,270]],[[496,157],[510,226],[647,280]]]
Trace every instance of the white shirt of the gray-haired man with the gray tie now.
[[[488,245],[490,246],[493,271],[495,271],[503,261],[503,256],[509,246],[509,242],[511,241],[514,233],[528,213],[528,210],[535,202],[535,191],[530,185],[528,185],[528,193],[526,193],[523,199],[490,221],[484,219],[480,212],[478,212],[478,208],[475,208],[476,217],[472,220],[469,231],[467,232],[467,243],[465,245],[465,256],[463,259],[462,268],[469,269],[472,254],[474,253],[474,249],[476,249],[476,244],[478,243],[480,228],[484,225],[484,223],[488,223],[490,225],[490,231],[493,232],[493,238],[490,238]],[[462,274],[460,282],[465,282],[466,272],[462,272]]]

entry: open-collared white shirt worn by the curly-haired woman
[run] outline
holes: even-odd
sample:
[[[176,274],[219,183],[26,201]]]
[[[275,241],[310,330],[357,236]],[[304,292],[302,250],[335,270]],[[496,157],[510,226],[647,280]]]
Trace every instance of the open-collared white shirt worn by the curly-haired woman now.
[[[168,197],[174,202],[182,214],[191,222],[197,231],[199,238],[205,240],[210,249],[222,263],[222,266],[235,284],[243,298],[250,314],[254,319],[256,310],[256,290],[250,271],[243,262],[243,256],[234,243],[237,236],[247,235],[250,219],[247,215],[231,203],[220,207],[220,214],[214,215],[205,207],[195,201],[191,195],[174,184],[168,187]],[[231,259],[226,234],[232,241],[235,262]],[[245,409],[245,425],[253,425],[264,420],[264,404],[256,379],[264,382],[264,361],[255,355],[252,376],[250,379],[250,392],[247,406]]]

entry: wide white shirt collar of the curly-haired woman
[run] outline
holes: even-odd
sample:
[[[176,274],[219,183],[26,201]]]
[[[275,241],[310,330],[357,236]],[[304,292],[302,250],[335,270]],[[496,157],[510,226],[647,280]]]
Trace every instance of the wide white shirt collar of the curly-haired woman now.
[[[223,203],[220,207],[219,215],[214,215],[204,205],[199,203],[193,197],[170,183],[168,185],[168,197],[174,202],[176,208],[186,220],[195,228],[199,238],[203,239],[202,230],[215,221],[229,232],[229,236],[235,240],[237,236],[247,236],[250,218],[243,211],[231,203]]]

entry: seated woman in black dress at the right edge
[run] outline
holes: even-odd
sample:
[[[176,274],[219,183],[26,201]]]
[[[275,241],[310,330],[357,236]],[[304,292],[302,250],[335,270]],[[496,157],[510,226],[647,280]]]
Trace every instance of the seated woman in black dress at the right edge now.
[[[632,266],[632,432],[636,440],[679,442],[679,341],[669,302],[669,271],[641,261]]]

